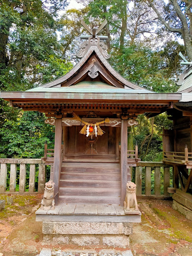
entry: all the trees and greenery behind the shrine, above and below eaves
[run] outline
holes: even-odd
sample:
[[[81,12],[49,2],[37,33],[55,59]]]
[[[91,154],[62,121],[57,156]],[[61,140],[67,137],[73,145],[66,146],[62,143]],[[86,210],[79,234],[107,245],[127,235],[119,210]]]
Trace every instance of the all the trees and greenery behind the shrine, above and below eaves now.
[[[122,76],[155,92],[177,90],[179,51],[192,60],[190,0],[77,1],[83,8],[67,8],[69,0],[0,0],[0,90],[26,90],[68,72],[86,33],[82,18],[91,28],[107,20],[101,34],[108,36],[109,62]],[[1,157],[42,156],[45,141],[54,141],[45,118],[0,100]],[[160,160],[162,122],[171,125],[167,115],[138,120],[132,132],[140,156]]]

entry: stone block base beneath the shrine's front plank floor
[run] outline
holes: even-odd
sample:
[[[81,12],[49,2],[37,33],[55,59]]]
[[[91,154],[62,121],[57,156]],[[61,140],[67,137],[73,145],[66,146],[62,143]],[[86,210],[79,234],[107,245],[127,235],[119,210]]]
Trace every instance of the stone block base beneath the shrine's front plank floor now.
[[[44,242],[128,247],[132,223],[43,222]]]

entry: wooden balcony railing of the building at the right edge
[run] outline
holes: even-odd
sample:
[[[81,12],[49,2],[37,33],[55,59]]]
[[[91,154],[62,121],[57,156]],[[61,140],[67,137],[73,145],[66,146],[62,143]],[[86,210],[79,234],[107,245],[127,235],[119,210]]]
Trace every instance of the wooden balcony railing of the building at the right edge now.
[[[165,151],[163,152],[163,161],[188,164],[192,162],[192,152],[188,152],[187,145],[185,145],[184,152]]]

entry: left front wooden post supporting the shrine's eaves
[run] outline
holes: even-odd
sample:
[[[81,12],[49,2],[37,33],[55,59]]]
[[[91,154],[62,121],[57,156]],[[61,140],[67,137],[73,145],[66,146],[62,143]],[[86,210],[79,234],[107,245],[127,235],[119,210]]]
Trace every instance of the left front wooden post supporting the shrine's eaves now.
[[[54,197],[55,204],[58,204],[60,166],[61,166],[61,142],[62,142],[62,119],[56,119],[54,164],[53,164],[53,182],[55,183]]]

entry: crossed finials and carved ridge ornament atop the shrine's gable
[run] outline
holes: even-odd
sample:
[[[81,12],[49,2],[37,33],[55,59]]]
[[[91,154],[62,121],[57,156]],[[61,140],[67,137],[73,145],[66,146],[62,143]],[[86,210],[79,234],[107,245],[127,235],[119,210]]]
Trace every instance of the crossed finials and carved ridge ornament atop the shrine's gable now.
[[[107,46],[104,44],[104,41],[100,40],[107,40],[107,36],[98,36],[97,34],[105,27],[107,24],[107,21],[104,20],[104,22],[101,24],[101,26],[96,29],[90,29],[88,25],[81,20],[81,24],[84,26],[84,28],[91,34],[91,35],[82,35],[81,39],[87,39],[80,45],[80,51],[76,54],[77,57],[82,58],[87,52],[88,49],[95,46],[99,49],[99,51],[102,53],[105,59],[110,58],[110,54],[107,52]]]

